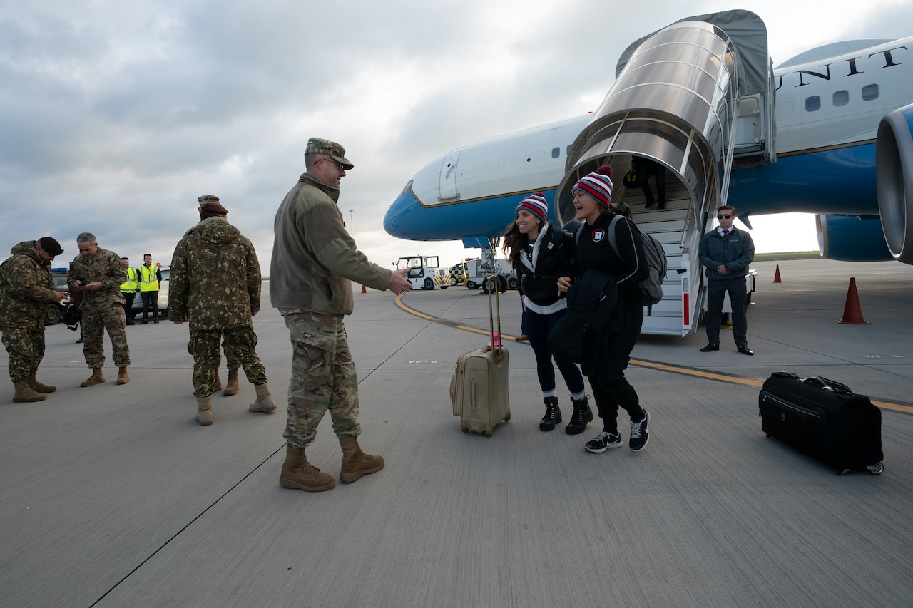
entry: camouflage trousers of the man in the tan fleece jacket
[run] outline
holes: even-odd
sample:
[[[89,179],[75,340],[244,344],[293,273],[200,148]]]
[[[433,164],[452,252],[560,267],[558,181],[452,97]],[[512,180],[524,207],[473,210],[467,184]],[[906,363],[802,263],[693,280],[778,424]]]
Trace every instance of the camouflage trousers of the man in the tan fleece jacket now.
[[[283,318],[292,345],[286,443],[309,446],[327,410],[336,436],[360,435],[358,376],[342,315],[292,312]]]

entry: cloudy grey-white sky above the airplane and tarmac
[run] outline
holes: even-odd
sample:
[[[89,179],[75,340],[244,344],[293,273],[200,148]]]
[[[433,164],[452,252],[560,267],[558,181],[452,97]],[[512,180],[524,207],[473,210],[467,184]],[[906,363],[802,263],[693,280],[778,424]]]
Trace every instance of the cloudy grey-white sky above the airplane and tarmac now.
[[[450,265],[478,250],[383,232],[404,184],[458,146],[595,110],[638,37],[748,8],[778,64],[836,40],[913,34],[913,0],[613,6],[0,0],[0,252],[55,236],[66,266],[89,231],[134,262],[152,252],[167,264],[199,219],[197,197],[216,194],[267,273],[273,215],[318,136],[356,165],[340,208],[368,257]],[[808,216],[753,221],[759,251],[817,247]]]

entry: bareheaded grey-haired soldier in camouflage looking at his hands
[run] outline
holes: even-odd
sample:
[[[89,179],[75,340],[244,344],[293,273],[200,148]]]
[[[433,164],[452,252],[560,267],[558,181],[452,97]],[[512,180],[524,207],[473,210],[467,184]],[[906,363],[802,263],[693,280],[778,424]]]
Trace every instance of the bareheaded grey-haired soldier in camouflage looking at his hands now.
[[[121,294],[127,271],[121,257],[102,249],[95,235],[80,233],[76,245],[79,256],[69,263],[67,285],[70,293],[79,292],[83,296],[79,307],[82,311],[82,354],[92,368],[92,375],[79,386],[105,382],[101,373],[105,365],[105,330],[111,340],[112,359],[118,367],[117,383],[129,383],[130,347],[127,346],[127,316],[123,312],[126,300]]]

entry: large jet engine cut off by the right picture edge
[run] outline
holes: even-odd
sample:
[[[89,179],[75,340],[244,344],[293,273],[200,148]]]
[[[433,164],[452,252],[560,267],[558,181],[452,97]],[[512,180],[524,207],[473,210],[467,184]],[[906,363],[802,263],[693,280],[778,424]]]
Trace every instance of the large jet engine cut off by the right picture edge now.
[[[894,259],[913,264],[913,104],[881,119],[875,174],[887,248]]]

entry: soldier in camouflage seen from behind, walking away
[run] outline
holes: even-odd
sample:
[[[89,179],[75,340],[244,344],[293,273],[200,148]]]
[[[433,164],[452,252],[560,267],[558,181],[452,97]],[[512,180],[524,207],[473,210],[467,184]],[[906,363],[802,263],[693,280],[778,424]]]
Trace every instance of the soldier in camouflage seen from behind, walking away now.
[[[257,357],[257,334],[251,319],[260,310],[260,264],[253,244],[226,220],[228,211],[218,197],[199,198],[200,223],[188,230],[174,248],[171,265],[168,319],[180,325],[190,321],[187,351],[194,357],[196,421],[213,424],[212,394],[219,385],[222,353],[244,367],[254,384],[257,401],[251,412],[272,412],[267,371]]]

